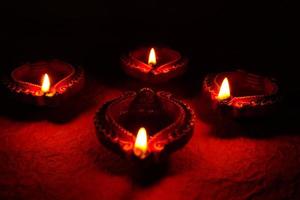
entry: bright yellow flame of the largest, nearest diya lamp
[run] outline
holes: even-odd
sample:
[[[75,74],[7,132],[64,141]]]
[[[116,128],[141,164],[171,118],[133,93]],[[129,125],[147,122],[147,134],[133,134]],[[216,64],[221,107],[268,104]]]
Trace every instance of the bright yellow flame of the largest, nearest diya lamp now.
[[[147,149],[148,149],[148,138],[147,138],[147,131],[144,127],[139,129],[139,132],[136,136],[135,143],[134,143],[134,154],[144,159],[146,157]]]

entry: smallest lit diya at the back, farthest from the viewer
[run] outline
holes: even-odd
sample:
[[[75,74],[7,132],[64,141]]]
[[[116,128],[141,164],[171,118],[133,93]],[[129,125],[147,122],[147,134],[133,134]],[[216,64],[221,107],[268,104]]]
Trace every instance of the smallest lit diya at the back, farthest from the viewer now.
[[[183,74],[188,59],[170,48],[139,48],[121,57],[129,76],[150,83],[162,83]]]

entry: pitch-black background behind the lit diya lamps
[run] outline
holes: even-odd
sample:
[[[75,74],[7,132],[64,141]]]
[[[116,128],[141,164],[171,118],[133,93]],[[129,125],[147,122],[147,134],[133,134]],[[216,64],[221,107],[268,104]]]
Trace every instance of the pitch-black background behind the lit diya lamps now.
[[[291,76],[296,78],[291,50],[296,12],[287,2],[46,0],[1,4],[4,70],[27,61],[58,58],[83,65],[87,71],[96,69],[98,74],[112,72],[108,74],[114,77],[122,53],[136,46],[162,44],[191,59],[190,71],[197,73],[190,73],[189,78],[236,68],[288,77],[292,83]]]

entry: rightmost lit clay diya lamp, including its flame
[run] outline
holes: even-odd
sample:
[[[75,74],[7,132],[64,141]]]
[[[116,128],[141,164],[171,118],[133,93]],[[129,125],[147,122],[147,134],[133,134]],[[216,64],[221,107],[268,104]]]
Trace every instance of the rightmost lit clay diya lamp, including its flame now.
[[[208,75],[203,89],[213,110],[221,110],[232,117],[270,114],[280,100],[274,79],[241,70]]]

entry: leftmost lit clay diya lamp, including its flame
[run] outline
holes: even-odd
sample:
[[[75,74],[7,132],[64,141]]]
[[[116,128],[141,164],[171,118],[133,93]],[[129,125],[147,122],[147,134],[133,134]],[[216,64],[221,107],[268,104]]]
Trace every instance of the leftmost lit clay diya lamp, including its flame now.
[[[82,68],[59,60],[27,63],[12,71],[4,85],[11,97],[36,106],[57,106],[84,84]]]

